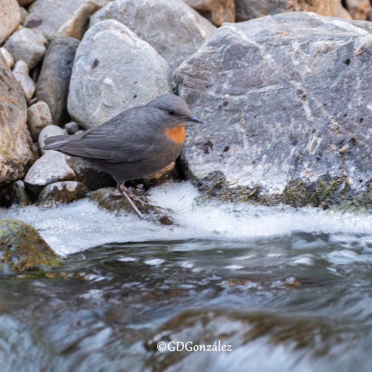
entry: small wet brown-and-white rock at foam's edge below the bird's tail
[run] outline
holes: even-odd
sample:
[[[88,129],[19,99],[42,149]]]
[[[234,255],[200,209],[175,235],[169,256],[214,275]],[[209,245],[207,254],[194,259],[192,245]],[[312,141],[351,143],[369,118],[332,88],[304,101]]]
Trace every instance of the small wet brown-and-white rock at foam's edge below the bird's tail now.
[[[38,205],[49,207],[61,203],[70,203],[85,198],[87,188],[81,182],[63,181],[47,185],[39,195]]]

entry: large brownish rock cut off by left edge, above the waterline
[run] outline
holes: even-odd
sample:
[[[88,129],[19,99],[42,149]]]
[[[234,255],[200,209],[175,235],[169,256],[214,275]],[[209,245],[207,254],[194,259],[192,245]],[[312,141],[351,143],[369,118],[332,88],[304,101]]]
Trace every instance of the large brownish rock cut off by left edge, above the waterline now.
[[[34,161],[25,94],[0,54],[0,186],[21,179]]]

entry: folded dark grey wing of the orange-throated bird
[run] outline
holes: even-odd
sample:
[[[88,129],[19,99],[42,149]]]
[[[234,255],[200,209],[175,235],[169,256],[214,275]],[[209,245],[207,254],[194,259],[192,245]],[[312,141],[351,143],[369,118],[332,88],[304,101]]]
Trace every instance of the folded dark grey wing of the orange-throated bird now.
[[[55,141],[48,138],[44,149],[113,163],[139,161],[154,147],[151,130],[138,125],[125,128],[123,123],[110,121],[78,135],[58,137]]]

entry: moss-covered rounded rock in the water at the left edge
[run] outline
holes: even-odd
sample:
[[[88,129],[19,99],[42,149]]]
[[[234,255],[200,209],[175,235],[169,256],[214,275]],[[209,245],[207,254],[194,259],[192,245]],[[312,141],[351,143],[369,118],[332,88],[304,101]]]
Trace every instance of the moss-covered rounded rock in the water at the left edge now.
[[[0,274],[50,270],[61,263],[35,228],[13,218],[0,220]]]

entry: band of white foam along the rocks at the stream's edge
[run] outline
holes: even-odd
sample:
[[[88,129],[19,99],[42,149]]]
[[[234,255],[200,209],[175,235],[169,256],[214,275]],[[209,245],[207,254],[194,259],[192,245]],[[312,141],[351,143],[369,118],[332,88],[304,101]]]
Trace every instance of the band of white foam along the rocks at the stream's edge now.
[[[0,218],[12,217],[33,225],[61,255],[105,243],[188,239],[254,241],[298,232],[325,233],[335,241],[342,237],[342,241],[372,242],[372,215],[220,203],[197,198],[200,194],[189,182],[170,183],[150,191],[150,203],[168,211],[173,225],[144,221],[134,212],[109,212],[88,199],[53,208],[0,208]],[[299,249],[300,246],[302,244]]]

